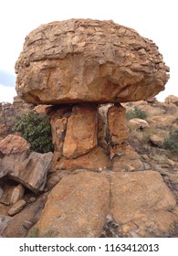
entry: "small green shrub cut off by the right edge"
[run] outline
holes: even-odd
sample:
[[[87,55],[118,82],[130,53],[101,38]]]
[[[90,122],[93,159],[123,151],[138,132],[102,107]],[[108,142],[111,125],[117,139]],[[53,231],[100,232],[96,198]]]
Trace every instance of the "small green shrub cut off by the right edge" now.
[[[178,130],[172,131],[170,137],[164,140],[163,148],[178,153]]]

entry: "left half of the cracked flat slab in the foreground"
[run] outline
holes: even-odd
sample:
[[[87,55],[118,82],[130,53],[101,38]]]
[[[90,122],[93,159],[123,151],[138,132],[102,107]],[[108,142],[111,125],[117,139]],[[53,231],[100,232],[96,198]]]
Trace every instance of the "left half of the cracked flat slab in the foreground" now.
[[[65,176],[52,189],[37,223],[39,237],[99,237],[110,205],[105,176],[82,172]]]

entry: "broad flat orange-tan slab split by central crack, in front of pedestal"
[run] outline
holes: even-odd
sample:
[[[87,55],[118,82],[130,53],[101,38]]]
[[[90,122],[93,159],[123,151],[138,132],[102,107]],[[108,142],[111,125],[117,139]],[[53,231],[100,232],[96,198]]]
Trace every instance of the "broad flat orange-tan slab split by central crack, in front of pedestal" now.
[[[162,236],[178,221],[175,206],[157,172],[78,170],[52,189],[36,228],[39,237],[99,237],[110,217],[115,237]]]

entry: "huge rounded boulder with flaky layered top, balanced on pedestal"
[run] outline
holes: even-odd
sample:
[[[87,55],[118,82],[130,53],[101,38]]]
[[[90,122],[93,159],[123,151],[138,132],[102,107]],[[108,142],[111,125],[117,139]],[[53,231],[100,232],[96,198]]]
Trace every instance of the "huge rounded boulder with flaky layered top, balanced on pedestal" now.
[[[37,27],[16,61],[28,102],[125,102],[153,97],[169,79],[158,48],[113,21],[69,19]]]

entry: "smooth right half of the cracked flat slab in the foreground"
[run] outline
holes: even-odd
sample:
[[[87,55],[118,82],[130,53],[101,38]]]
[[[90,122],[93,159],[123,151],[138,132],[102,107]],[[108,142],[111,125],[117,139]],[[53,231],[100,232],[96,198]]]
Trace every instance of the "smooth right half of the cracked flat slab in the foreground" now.
[[[176,205],[162,176],[153,171],[114,173],[111,191],[111,213],[121,223],[141,219],[158,210],[170,210]]]

